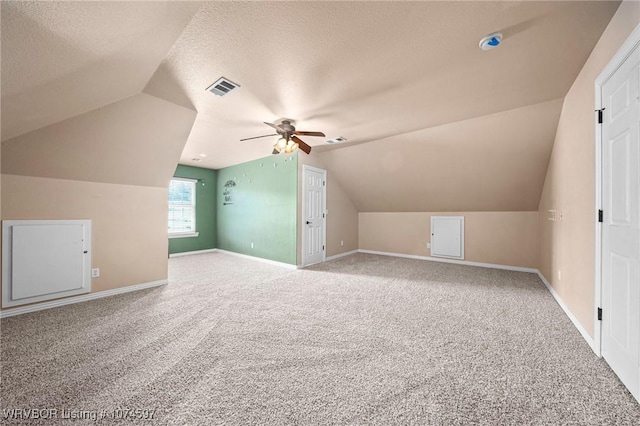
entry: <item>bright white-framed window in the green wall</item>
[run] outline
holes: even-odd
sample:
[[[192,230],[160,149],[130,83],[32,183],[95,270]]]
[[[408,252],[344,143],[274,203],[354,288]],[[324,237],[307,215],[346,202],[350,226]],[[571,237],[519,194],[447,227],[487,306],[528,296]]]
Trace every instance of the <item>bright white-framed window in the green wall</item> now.
[[[174,178],[169,184],[169,238],[197,236],[196,181]]]

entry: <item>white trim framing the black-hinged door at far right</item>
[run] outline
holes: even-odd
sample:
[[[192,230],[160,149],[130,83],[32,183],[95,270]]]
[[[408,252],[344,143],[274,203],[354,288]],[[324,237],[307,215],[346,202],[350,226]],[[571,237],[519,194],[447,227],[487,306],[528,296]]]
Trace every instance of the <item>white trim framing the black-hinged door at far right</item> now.
[[[602,70],[595,81],[595,110],[602,108],[602,86],[613,76],[624,61],[631,55],[636,47],[640,46],[640,25],[627,37],[620,49],[611,58],[607,66]],[[594,209],[595,222],[595,295],[593,307],[593,341],[595,343],[594,352],[602,357],[602,321],[598,320],[598,308],[602,306],[602,224],[598,222],[598,210],[602,209],[602,126],[598,124],[594,115],[595,123],[595,166],[596,166],[596,205]]]

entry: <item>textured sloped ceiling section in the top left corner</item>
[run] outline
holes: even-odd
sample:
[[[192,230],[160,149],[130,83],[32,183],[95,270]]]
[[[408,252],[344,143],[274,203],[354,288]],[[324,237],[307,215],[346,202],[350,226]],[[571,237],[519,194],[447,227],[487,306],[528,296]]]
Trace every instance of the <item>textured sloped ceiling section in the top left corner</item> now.
[[[147,84],[197,2],[24,2],[2,7],[2,140]]]

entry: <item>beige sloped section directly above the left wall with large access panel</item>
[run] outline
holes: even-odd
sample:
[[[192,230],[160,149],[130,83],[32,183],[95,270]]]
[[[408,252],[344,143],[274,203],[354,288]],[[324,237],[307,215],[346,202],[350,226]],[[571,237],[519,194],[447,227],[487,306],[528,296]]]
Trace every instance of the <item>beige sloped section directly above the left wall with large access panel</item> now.
[[[2,143],[2,173],[167,187],[196,112],[141,93]]]

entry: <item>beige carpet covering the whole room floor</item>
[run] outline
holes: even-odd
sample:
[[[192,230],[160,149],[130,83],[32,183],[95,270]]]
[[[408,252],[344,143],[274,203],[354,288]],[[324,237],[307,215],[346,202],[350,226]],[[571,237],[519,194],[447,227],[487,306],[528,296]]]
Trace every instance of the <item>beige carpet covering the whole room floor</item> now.
[[[166,287],[3,319],[0,423],[640,424],[533,274],[365,254],[169,266]]]

